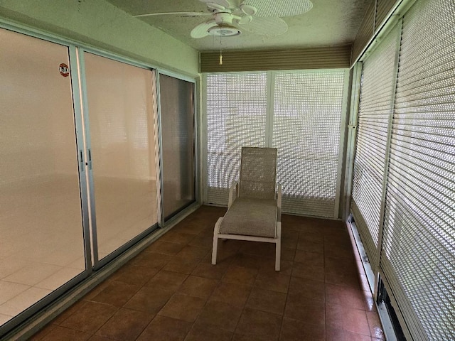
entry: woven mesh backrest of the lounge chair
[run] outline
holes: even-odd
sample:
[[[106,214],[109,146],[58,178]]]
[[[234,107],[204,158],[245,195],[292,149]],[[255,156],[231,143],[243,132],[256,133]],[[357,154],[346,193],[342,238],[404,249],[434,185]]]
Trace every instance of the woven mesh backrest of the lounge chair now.
[[[274,199],[277,148],[242,147],[240,197]]]

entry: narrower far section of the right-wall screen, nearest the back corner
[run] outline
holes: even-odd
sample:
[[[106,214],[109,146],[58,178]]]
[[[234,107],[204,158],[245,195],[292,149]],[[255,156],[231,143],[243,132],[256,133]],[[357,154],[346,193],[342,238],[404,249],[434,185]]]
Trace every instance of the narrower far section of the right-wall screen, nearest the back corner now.
[[[368,258],[376,266],[400,27],[396,26],[365,60],[360,92],[351,209]]]

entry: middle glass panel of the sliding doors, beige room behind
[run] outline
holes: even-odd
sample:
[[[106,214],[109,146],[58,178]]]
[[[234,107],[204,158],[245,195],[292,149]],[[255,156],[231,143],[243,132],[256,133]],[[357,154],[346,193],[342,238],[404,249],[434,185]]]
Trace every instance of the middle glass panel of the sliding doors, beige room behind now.
[[[98,258],[156,224],[154,73],[85,53]]]

